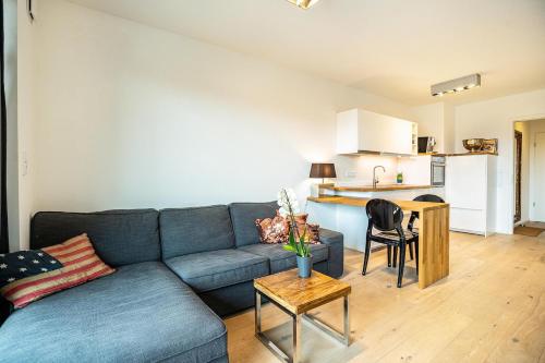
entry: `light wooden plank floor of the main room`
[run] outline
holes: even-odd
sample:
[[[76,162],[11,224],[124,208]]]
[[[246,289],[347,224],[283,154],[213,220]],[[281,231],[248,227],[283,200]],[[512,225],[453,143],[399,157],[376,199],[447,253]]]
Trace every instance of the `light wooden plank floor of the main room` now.
[[[346,252],[353,342],[304,325],[305,362],[545,362],[545,237],[452,233],[450,276],[425,290],[413,262],[397,289],[385,251],[372,254],[365,277],[362,254]],[[316,312],[340,327],[340,302]],[[254,337],[253,310],[226,324],[231,363],[278,362]],[[263,327],[289,349],[289,318],[271,304]]]

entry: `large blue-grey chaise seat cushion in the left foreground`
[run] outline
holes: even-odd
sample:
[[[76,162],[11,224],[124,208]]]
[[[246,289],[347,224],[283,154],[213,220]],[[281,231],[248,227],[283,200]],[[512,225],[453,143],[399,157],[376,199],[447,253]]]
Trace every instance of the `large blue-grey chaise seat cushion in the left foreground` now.
[[[186,285],[152,262],[16,311],[0,327],[0,362],[209,362],[227,354],[227,332]]]

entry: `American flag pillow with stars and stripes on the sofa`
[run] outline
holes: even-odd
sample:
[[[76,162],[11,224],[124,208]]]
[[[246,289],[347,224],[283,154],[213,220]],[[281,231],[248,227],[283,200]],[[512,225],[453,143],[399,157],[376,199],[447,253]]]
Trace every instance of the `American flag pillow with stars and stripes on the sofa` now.
[[[0,293],[15,308],[116,271],[87,234],[41,250],[0,254]]]

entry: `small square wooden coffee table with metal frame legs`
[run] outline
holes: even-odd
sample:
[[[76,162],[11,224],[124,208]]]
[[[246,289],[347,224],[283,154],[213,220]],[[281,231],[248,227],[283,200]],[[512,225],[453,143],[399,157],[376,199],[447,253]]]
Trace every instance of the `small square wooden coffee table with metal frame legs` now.
[[[315,325],[344,346],[350,344],[348,300],[351,292],[350,285],[314,270],[310,278],[303,279],[298,276],[298,269],[295,268],[255,279],[254,289],[255,336],[281,361],[293,363],[301,361],[301,318]],[[262,295],[291,316],[293,324],[293,356],[289,356],[262,331]],[[344,299],[343,332],[337,331],[316,316],[307,314],[310,310],[340,298]]]

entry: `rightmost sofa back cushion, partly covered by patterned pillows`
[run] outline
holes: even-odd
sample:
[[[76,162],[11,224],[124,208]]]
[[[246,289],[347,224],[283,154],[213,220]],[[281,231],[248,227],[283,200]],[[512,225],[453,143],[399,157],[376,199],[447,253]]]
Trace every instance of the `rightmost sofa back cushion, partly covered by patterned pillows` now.
[[[278,208],[276,202],[231,203],[229,213],[233,223],[237,246],[259,243],[259,233],[255,227],[255,220],[275,217]]]

